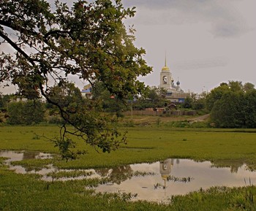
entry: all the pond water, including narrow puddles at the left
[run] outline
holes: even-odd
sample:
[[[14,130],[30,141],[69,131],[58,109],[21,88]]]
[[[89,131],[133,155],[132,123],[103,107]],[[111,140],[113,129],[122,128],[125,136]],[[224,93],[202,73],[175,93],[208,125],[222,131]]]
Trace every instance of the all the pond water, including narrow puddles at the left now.
[[[18,173],[42,174],[42,180],[53,180],[50,172],[72,171],[56,169],[52,165],[40,171],[27,172],[22,166],[13,166],[10,161],[26,158],[51,158],[47,153],[0,151],[0,157],[10,158],[7,164]],[[227,165],[227,164],[226,164]],[[132,193],[135,200],[142,199],[154,202],[167,202],[173,195],[186,194],[211,186],[227,187],[256,183],[256,172],[249,171],[246,164],[230,164],[232,167],[216,167],[210,161],[197,162],[189,159],[170,158],[153,164],[132,164],[112,169],[87,169],[80,171],[91,174],[78,177],[59,177],[56,180],[83,180],[91,177],[107,178],[108,183],[99,185],[97,192]],[[246,181],[246,183],[245,183]]]

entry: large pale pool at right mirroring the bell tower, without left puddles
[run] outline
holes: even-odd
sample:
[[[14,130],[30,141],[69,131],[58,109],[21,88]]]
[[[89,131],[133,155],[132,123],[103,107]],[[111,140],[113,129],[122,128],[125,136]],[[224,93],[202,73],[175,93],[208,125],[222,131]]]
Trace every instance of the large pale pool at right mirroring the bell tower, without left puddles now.
[[[154,172],[143,177],[133,176],[120,184],[99,185],[98,192],[138,193],[136,199],[167,202],[173,195],[206,189],[211,186],[244,186],[244,179],[256,181],[256,172],[244,164],[236,173],[229,167],[217,168],[211,162],[188,159],[167,159],[153,164],[130,165],[131,171]]]

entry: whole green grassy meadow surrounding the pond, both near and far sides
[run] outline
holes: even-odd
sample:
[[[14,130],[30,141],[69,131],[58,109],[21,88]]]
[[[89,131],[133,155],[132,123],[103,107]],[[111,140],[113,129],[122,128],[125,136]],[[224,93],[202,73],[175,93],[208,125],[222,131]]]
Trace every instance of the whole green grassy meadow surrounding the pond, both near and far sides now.
[[[64,161],[58,149],[45,137],[58,134],[57,126],[3,126],[1,150],[28,150],[54,153],[51,159],[16,161],[29,169],[53,164],[61,169],[90,169],[151,163],[166,158],[212,161],[216,166],[241,166],[256,169],[256,129],[172,128],[170,124],[120,128],[129,131],[128,145],[111,153],[97,152],[77,140],[87,153],[75,161]],[[45,182],[37,174],[15,174],[0,158],[0,210],[256,210],[255,186],[244,188],[212,187],[174,196],[170,204],[130,202],[129,194],[95,193],[86,186],[101,181],[72,180]],[[253,181],[252,181],[253,183]]]

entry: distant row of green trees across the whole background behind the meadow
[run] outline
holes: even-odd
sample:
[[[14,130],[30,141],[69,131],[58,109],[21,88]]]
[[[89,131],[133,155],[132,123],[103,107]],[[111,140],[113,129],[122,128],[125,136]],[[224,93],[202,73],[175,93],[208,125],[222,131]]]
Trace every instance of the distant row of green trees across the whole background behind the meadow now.
[[[75,91],[75,96],[80,99],[80,91],[77,88]],[[58,90],[54,97],[59,98],[60,93],[61,90]],[[124,111],[131,109],[165,107],[167,110],[170,101],[165,99],[165,93],[162,88],[151,87],[143,96],[133,96],[127,101],[119,101],[99,83],[92,91],[92,99],[88,99],[87,103],[91,104],[91,101],[95,101],[96,103],[91,105],[94,110],[110,112],[122,117]],[[2,122],[12,125],[61,123],[60,115],[52,104],[44,103],[39,99],[16,100],[15,95],[0,95]],[[72,108],[75,106],[75,99],[65,97],[63,103]],[[210,113],[208,126],[211,127],[256,128],[256,90],[252,83],[244,85],[238,81],[221,83],[210,92],[190,93],[183,104],[176,106],[178,110],[196,110],[198,114]]]

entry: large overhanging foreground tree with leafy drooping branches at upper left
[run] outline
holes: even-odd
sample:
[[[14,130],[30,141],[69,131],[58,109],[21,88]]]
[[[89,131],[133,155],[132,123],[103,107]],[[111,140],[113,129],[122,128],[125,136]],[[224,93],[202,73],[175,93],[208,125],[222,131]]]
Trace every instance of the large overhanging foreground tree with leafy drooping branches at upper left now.
[[[112,119],[84,102],[67,77],[78,75],[92,86],[100,81],[118,99],[143,92],[137,77],[151,67],[143,59],[145,50],[133,45],[134,29],[127,32],[123,23],[134,15],[135,8],[124,9],[121,0],[77,1],[72,8],[55,1],[55,9],[45,0],[0,1],[0,42],[15,50],[0,55],[0,82],[11,81],[33,99],[40,93],[59,109],[64,124],[56,145],[66,158],[75,157],[68,134],[108,152],[124,142],[110,127]],[[74,101],[65,104],[61,98]]]

